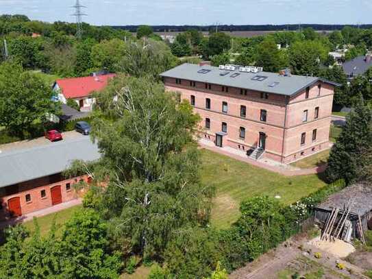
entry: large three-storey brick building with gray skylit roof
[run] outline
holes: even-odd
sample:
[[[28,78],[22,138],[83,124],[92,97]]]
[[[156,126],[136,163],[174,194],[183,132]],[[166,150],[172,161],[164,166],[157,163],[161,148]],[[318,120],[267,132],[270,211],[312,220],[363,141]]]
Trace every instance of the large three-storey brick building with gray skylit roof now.
[[[161,74],[201,116],[203,137],[251,158],[293,162],[329,148],[334,87],[255,67],[182,64]]]

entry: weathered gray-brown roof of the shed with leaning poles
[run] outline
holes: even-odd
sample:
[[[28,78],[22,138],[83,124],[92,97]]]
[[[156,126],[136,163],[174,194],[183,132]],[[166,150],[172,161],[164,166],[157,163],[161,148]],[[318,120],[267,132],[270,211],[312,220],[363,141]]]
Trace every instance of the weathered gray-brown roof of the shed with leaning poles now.
[[[360,215],[369,213],[372,210],[372,185],[371,184],[355,184],[346,187],[338,193],[334,193],[317,208],[323,210],[332,210],[332,208],[340,208],[343,210],[350,201],[353,202],[350,213]]]

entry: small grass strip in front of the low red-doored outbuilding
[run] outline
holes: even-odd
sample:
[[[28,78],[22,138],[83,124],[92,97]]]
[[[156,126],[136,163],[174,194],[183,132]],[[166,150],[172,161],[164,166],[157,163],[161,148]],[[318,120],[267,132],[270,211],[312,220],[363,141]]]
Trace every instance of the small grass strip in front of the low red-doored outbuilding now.
[[[55,217],[55,225],[57,227],[57,235],[60,235],[62,230],[61,228],[64,226],[67,220],[70,219],[71,215],[75,213],[77,210],[80,210],[82,206],[73,206],[71,208],[67,208],[64,210],[59,211],[58,213],[53,213],[49,215],[45,215],[42,217],[38,217],[38,225],[40,227],[40,234],[46,235],[49,230],[51,229],[51,224],[53,222],[53,218]],[[34,221],[27,221],[23,223],[23,225],[30,230],[30,232],[34,232],[35,226]]]

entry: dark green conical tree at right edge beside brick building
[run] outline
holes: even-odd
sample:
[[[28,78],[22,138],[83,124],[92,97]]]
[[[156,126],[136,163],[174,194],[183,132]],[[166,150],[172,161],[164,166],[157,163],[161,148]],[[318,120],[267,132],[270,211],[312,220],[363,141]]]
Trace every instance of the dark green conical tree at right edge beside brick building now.
[[[359,178],[359,170],[366,164],[362,160],[362,153],[372,147],[372,111],[364,105],[362,97],[355,104],[346,117],[346,125],[343,128],[336,143],[331,149],[327,179],[330,182],[345,179],[353,182]]]

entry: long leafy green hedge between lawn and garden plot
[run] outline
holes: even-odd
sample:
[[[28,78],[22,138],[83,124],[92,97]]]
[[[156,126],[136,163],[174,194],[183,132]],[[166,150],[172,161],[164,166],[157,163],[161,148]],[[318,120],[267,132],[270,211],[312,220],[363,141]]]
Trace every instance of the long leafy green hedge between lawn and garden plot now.
[[[175,235],[166,250],[164,272],[192,279],[209,276],[218,262],[229,272],[243,267],[299,233],[314,207],[345,186],[338,180],[290,206],[271,197],[251,197],[241,203],[241,217],[231,228],[193,228]]]

